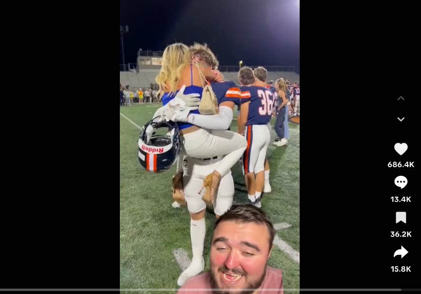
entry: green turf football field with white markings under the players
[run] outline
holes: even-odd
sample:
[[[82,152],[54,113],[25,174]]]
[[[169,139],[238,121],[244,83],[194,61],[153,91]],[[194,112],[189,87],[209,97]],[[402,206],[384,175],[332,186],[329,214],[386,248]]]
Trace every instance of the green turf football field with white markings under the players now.
[[[120,107],[123,114],[139,126],[150,120],[158,104]],[[235,112],[236,113],[236,112]],[[273,126],[274,118],[271,121]],[[237,130],[233,120],[231,130]],[[262,208],[273,224],[288,223],[277,236],[300,251],[299,224],[299,124],[289,123],[287,146],[269,145],[271,193],[264,194]],[[140,130],[120,115],[120,289],[123,293],[175,293],[181,269],[173,250],[182,248],[191,258],[190,218],[186,207],[173,208],[170,171],[146,172],[137,158]],[[275,138],[272,130],[272,141]],[[233,167],[234,203],[247,203],[241,166]],[[210,237],[215,217],[206,214],[205,270],[209,269]],[[283,271],[284,290],[299,289],[300,265],[274,246],[269,265]],[[134,289],[138,289],[134,291]],[[155,289],[155,290],[154,290]],[[157,292],[156,289],[161,289]],[[166,289],[166,290],[164,290]],[[172,290],[171,290],[172,289]],[[298,290],[285,291],[298,293]]]

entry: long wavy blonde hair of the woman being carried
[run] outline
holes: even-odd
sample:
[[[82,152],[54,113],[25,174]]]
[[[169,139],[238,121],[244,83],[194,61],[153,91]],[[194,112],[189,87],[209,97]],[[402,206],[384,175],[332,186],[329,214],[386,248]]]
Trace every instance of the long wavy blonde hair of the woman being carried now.
[[[159,86],[158,95],[165,91],[174,93],[181,78],[181,72],[191,63],[189,47],[182,43],[168,45],[162,54],[162,66],[155,81]],[[168,89],[169,86],[169,89]]]

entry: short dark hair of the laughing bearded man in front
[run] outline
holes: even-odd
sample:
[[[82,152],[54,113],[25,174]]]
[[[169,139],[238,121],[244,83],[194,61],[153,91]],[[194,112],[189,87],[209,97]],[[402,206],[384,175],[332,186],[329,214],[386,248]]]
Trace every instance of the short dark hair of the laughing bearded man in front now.
[[[259,225],[265,225],[269,231],[269,250],[273,245],[273,238],[275,237],[275,229],[267,217],[266,213],[251,204],[234,204],[216,220],[213,226],[213,232],[220,222],[233,221],[238,223],[256,223]]]

